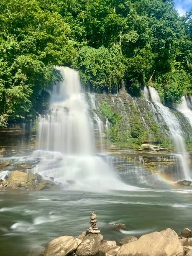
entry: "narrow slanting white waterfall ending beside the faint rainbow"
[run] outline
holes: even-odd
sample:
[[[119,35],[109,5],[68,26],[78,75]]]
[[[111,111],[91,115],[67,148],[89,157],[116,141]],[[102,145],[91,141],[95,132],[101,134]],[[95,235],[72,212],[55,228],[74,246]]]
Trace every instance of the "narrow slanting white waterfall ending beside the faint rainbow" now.
[[[149,86],[149,92],[151,95],[152,101],[155,103],[157,107],[157,111],[164,119],[164,122],[169,127],[169,131],[172,135],[177,153],[178,159],[182,166],[183,174],[185,179],[189,179],[189,168],[187,164],[187,152],[184,146],[184,139],[182,137],[182,129],[180,127],[179,121],[176,116],[169,110],[169,108],[165,107],[161,103],[161,99],[159,97],[158,92],[154,87]]]

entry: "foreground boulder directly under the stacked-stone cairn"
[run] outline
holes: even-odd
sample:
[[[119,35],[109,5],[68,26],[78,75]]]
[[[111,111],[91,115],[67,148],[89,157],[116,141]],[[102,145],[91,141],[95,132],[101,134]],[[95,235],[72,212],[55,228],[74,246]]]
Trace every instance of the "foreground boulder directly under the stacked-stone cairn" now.
[[[91,256],[98,253],[101,245],[100,236],[98,234],[88,234],[77,247],[77,256]]]

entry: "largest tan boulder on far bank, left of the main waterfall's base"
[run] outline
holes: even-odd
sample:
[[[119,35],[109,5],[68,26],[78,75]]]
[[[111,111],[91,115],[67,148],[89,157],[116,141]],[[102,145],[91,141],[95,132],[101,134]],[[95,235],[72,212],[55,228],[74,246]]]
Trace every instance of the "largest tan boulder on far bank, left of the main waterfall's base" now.
[[[33,182],[35,181],[36,176],[32,173],[26,173],[26,172],[20,172],[20,171],[13,171],[8,179],[7,182],[8,183],[14,183],[13,181],[20,181],[22,182]]]

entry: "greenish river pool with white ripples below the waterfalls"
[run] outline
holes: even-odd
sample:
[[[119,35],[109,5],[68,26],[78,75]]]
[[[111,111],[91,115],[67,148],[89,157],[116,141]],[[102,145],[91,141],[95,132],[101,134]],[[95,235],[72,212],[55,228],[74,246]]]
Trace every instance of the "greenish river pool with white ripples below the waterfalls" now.
[[[192,189],[138,189],[138,191],[21,190],[0,191],[0,255],[39,256],[43,246],[58,236],[78,236],[97,214],[105,239],[173,228],[192,228]],[[114,230],[113,223],[125,223]]]

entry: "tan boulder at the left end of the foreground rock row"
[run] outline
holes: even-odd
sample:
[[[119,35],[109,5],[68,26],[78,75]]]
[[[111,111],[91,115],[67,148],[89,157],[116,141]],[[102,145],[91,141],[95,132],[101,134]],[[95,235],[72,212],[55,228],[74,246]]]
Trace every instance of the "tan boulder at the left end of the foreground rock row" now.
[[[50,241],[45,248],[44,256],[65,256],[77,249],[77,241],[72,236],[60,236]]]

